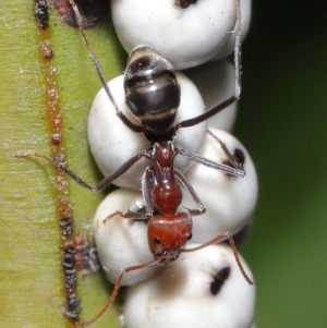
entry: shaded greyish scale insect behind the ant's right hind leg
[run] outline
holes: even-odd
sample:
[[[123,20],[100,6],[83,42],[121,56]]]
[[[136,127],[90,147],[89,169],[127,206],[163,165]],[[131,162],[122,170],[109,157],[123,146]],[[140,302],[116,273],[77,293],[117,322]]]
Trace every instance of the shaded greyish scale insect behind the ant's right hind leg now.
[[[208,62],[184,72],[201,93],[206,110],[230,98],[235,92],[234,65],[229,60]],[[231,131],[237,118],[238,102],[208,119],[209,127]]]

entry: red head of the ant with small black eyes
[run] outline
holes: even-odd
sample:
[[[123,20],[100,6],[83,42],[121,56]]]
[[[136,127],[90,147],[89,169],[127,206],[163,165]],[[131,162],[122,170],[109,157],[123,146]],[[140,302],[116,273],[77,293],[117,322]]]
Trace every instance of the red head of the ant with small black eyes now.
[[[187,212],[175,216],[154,216],[147,228],[148,246],[160,263],[175,260],[192,238],[192,218]]]

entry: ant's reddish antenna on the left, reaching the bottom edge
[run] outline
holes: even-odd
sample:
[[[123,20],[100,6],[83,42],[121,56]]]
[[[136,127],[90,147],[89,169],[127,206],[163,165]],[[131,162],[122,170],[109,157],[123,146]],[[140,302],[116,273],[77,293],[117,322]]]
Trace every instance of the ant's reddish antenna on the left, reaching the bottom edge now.
[[[96,315],[94,316],[92,319],[89,320],[86,320],[82,324],[83,327],[86,327],[86,326],[89,326],[92,324],[94,324],[98,318],[101,317],[101,315],[110,307],[110,305],[113,303],[117,294],[118,294],[118,291],[120,289],[120,284],[121,284],[121,280],[124,276],[124,274],[128,274],[128,272],[131,272],[131,271],[136,271],[136,270],[141,270],[141,269],[145,269],[145,268],[148,268],[157,263],[159,263],[160,260],[162,260],[164,256],[160,256],[159,258],[155,259],[155,260],[152,260],[149,263],[144,263],[144,264],[141,264],[138,266],[133,266],[133,267],[128,267],[128,268],[124,268],[120,271],[120,275],[116,281],[116,284],[113,287],[113,290],[111,292],[111,295],[109,297],[109,300],[107,301],[107,303],[105,304],[105,306],[101,308],[101,311]]]

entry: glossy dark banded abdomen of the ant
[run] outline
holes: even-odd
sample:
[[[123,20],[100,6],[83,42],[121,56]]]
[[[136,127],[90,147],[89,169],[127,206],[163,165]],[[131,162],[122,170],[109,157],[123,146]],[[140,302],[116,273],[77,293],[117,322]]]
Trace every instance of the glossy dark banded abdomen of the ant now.
[[[169,61],[147,47],[134,48],[124,76],[132,114],[155,135],[167,134],[175,119],[181,89]]]

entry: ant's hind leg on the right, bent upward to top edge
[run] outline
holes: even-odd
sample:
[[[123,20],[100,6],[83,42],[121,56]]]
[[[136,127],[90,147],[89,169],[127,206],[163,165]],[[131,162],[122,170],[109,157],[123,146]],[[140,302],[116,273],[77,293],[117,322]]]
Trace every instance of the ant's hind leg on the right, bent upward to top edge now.
[[[190,127],[193,125],[196,125],[203,121],[206,121],[207,119],[214,117],[219,111],[225,109],[226,107],[230,106],[231,104],[235,102],[240,99],[241,95],[241,28],[242,28],[242,22],[241,22],[241,8],[240,8],[240,0],[234,0],[237,5],[237,23],[233,33],[235,34],[235,44],[234,44],[234,72],[235,72],[235,90],[234,94],[228,98],[227,100],[222,101],[221,104],[217,105],[213,109],[206,111],[205,113],[190,119],[182,121],[174,125],[174,131],[178,131],[181,127]]]

